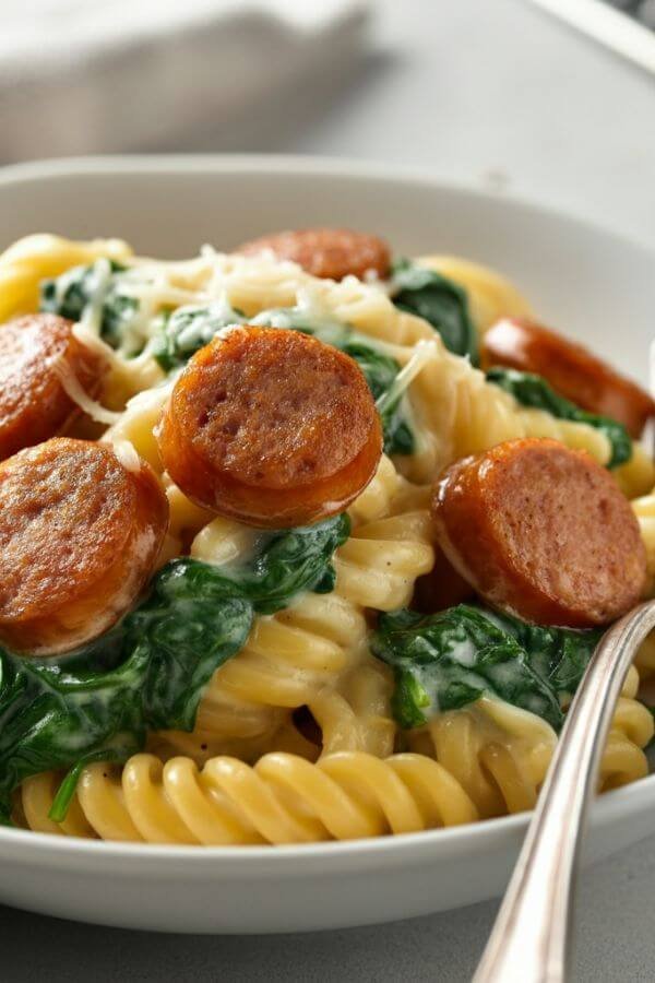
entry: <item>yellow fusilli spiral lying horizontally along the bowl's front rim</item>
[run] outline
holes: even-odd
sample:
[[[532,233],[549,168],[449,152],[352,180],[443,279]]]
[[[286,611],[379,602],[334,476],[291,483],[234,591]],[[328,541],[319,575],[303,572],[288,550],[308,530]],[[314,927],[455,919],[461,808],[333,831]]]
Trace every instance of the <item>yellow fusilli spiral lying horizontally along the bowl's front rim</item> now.
[[[152,843],[236,845],[347,840],[455,826],[477,818],[461,785],[437,761],[403,754],[380,759],[343,751],[315,765],[271,753],[163,765],[136,755],[122,772],[102,765],[82,775],[64,824],[47,818],[48,775],[23,785],[29,828],[68,836]]]

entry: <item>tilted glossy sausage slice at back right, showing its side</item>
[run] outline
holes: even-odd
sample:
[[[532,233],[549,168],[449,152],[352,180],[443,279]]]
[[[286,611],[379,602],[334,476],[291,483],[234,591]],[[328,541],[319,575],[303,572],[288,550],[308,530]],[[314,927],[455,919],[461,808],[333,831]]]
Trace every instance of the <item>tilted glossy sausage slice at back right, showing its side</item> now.
[[[635,382],[582,345],[532,321],[498,321],[483,339],[481,358],[485,368],[500,365],[543,376],[583,410],[622,423],[632,437],[655,416],[655,402]]]

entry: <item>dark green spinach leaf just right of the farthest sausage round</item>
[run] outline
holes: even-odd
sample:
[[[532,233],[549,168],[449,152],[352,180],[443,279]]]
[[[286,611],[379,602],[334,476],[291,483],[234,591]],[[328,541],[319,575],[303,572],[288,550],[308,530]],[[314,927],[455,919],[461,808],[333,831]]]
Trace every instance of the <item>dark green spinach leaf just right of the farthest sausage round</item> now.
[[[406,259],[394,263],[392,283],[396,307],[428,321],[449,352],[468,355],[472,365],[479,364],[477,332],[463,287],[441,273]]]

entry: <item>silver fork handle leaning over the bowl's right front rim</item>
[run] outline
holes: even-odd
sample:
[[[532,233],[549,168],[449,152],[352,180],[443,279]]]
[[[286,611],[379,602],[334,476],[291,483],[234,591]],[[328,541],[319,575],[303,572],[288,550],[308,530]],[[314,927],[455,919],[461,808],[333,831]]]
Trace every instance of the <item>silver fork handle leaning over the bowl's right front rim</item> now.
[[[588,803],[616,701],[638,646],[655,627],[655,601],[603,637],[571,703],[548,775],[474,983],[560,983]]]

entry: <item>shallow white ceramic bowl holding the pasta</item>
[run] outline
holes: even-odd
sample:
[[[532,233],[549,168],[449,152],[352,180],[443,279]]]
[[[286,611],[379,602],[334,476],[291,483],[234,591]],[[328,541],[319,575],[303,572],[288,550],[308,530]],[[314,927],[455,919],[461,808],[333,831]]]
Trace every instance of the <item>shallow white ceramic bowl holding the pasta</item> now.
[[[646,379],[645,248],[522,202],[365,164],[284,157],[55,162],[0,171],[0,248],[33,232],[121,236],[186,257],[264,232],[347,225],[397,253],[452,252],[511,276],[544,320]],[[594,807],[587,860],[653,831],[655,777]],[[502,891],[526,817],[397,838],[243,849],[140,846],[0,829],[0,902],[126,928],[298,932],[364,925]]]

